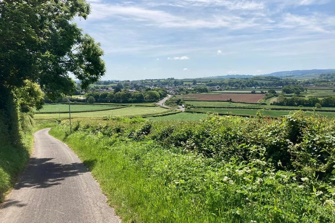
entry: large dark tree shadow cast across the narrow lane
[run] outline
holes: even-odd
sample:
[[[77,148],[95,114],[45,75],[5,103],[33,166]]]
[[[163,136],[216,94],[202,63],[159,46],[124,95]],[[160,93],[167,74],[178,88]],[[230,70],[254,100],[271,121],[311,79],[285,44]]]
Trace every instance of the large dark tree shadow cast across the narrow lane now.
[[[54,158],[31,158],[24,176],[15,189],[23,187],[46,188],[61,184],[67,177],[87,172],[83,163],[60,164]]]

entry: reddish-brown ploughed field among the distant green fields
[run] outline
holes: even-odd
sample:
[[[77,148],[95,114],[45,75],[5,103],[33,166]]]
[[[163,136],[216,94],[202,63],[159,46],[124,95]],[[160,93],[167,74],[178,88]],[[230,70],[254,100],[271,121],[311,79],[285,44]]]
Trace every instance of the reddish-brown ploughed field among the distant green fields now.
[[[262,99],[265,94],[236,94],[236,93],[223,93],[223,94],[190,94],[180,95],[178,97],[184,100],[194,101],[228,101],[230,98],[234,102],[249,102],[257,103]]]

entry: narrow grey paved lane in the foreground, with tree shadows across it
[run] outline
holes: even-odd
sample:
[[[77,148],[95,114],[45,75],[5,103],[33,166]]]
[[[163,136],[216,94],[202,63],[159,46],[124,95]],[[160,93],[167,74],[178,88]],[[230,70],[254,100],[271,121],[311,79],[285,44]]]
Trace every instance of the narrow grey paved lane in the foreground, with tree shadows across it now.
[[[49,130],[35,133],[33,157],[0,209],[0,222],[121,222],[84,164]]]

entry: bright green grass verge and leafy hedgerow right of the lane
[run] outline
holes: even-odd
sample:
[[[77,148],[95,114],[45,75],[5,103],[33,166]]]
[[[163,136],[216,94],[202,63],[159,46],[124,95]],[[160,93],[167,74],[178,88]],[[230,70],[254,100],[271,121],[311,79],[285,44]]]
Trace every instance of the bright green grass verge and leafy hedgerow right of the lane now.
[[[300,111],[74,126],[50,133],[79,155],[124,222],[335,222],[333,119]]]

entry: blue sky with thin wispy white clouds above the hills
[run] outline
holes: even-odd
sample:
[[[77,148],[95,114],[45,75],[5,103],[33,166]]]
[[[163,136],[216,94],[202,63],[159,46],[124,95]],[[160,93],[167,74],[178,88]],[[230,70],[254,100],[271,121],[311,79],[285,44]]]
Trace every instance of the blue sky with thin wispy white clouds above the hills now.
[[[87,0],[102,80],[335,68],[335,0]]]

